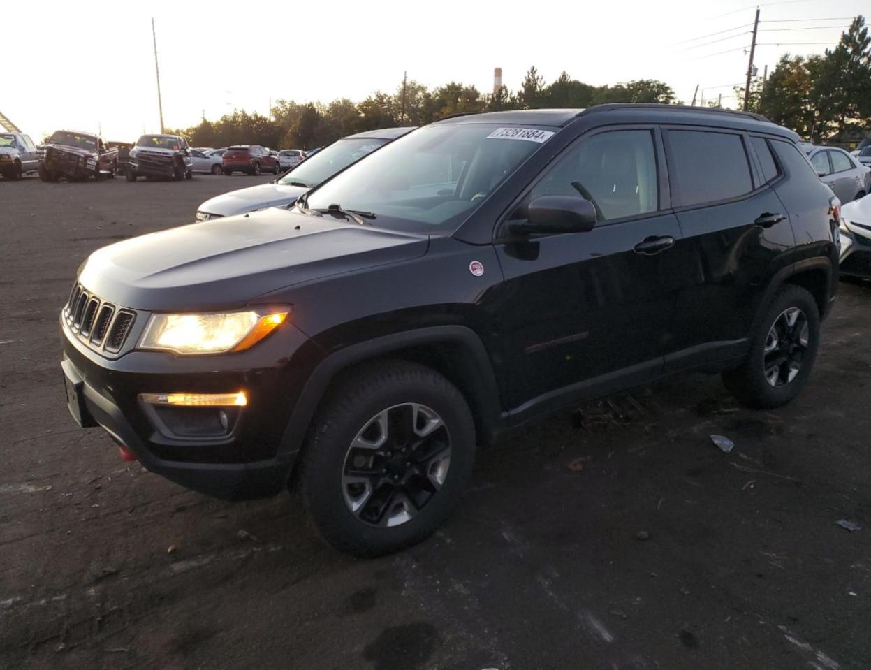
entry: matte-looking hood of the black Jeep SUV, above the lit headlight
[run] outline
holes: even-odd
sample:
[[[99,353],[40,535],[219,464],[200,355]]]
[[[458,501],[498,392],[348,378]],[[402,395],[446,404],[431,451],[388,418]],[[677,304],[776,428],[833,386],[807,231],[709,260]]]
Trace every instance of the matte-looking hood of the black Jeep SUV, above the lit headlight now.
[[[424,235],[269,209],[104,247],[78,281],[128,308],[239,308],[301,282],[417,258],[427,245]]]

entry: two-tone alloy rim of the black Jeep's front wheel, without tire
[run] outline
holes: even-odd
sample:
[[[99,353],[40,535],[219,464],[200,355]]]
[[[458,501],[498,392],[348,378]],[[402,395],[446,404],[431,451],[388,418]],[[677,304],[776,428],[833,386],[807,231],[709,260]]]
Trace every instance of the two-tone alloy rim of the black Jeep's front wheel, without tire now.
[[[341,491],[348,511],[373,526],[408,522],[441,490],[450,451],[448,428],[434,409],[403,403],[382,410],[345,455]]]

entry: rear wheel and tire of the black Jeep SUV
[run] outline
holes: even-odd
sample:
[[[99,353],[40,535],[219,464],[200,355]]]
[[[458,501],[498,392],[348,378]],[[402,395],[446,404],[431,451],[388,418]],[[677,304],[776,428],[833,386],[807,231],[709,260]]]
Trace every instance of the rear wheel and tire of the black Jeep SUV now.
[[[753,408],[793,400],[807,383],[820,345],[820,310],[807,289],[780,288],[752,335],[738,369],[723,374],[726,389]]]

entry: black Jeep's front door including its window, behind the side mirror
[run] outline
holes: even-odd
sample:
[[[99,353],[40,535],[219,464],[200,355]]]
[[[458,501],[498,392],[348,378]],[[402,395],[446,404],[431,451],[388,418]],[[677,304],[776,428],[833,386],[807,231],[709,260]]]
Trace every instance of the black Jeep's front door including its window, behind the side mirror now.
[[[504,388],[515,413],[658,376],[680,237],[666,183],[658,131],[623,126],[579,139],[521,201],[522,211],[537,196],[583,195],[598,220],[586,233],[500,233]]]

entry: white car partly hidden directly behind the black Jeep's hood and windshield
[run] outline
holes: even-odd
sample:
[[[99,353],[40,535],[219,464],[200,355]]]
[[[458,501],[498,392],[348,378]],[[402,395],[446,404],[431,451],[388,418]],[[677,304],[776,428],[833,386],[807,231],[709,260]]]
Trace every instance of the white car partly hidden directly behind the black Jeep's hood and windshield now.
[[[253,212],[263,207],[293,205],[309,188],[360,160],[380,146],[402,137],[410,128],[385,128],[379,131],[360,132],[334,142],[316,157],[298,163],[291,171],[268,184],[240,188],[206,200],[197,209],[198,221],[217,219]]]

